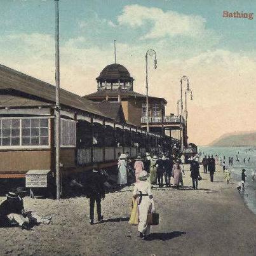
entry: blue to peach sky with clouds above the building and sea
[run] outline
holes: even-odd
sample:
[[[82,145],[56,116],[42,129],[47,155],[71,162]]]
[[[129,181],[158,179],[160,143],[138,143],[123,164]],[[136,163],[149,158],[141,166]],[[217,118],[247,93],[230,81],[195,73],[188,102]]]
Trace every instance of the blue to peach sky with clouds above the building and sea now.
[[[145,93],[166,98],[177,114],[180,77],[189,77],[189,142],[207,145],[225,133],[255,131],[255,18],[224,18],[223,11],[255,13],[243,0],[60,0],[60,86],[78,95],[97,90],[95,78],[114,62]],[[55,1],[0,1],[0,63],[55,84]],[[185,88],[185,84],[184,84]]]

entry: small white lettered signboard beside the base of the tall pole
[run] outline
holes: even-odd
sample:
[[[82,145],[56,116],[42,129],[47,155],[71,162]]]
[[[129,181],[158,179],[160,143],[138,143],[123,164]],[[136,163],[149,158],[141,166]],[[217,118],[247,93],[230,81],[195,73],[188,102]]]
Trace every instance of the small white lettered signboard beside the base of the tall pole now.
[[[26,187],[47,187],[50,170],[32,170],[26,173]]]

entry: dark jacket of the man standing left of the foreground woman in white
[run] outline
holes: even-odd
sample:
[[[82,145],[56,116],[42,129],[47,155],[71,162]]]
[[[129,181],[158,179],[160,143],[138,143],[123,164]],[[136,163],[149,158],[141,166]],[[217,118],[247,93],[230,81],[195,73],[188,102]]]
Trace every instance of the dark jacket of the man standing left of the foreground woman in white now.
[[[87,198],[104,198],[104,176],[100,172],[92,172],[86,180]]]

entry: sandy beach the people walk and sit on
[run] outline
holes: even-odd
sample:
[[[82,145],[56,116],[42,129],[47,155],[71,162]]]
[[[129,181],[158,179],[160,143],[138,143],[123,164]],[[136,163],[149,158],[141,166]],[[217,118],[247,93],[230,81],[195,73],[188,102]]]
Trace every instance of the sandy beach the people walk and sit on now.
[[[186,169],[188,166],[186,166]],[[1,255],[255,255],[256,216],[236,191],[216,172],[215,182],[203,174],[199,189],[191,189],[189,171],[184,187],[154,189],[159,226],[151,240],[137,236],[128,224],[133,186],[107,194],[102,203],[105,222],[89,224],[89,202],[84,197],[60,199],[25,198],[26,210],[51,215],[49,225],[26,231],[0,229]],[[1,201],[3,201],[3,197]]]

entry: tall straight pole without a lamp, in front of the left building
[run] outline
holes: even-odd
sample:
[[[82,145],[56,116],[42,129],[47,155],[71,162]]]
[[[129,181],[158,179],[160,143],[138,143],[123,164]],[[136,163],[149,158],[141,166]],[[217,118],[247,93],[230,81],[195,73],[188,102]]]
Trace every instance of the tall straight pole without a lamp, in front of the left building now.
[[[58,0],[55,0],[55,171],[56,171],[56,198],[60,199],[60,46],[59,46],[59,14]]]

